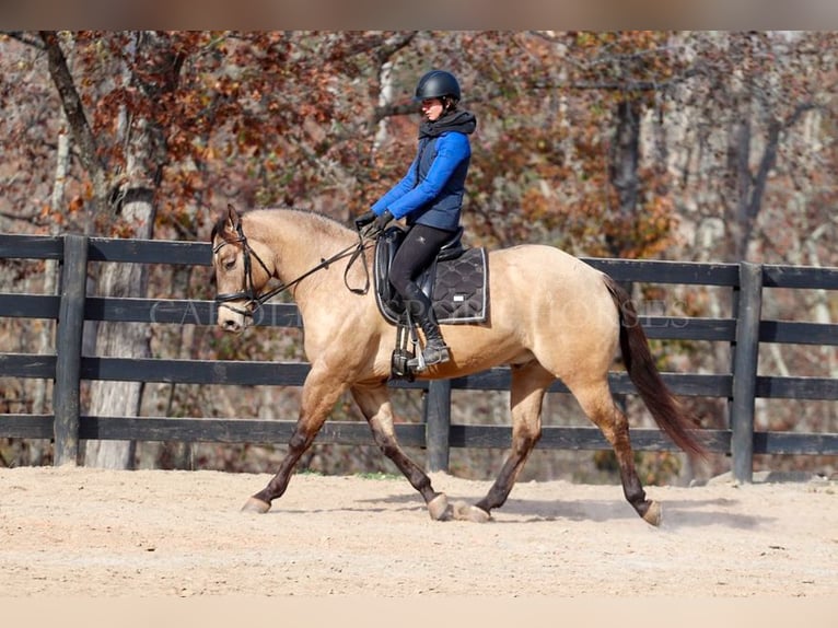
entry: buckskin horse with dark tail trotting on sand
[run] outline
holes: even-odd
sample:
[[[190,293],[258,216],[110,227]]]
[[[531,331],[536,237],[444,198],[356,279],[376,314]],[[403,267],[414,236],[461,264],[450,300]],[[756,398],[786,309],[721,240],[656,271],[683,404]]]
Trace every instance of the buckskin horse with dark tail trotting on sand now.
[[[254,310],[289,291],[302,316],[311,370],[300,414],[279,469],[243,511],[266,513],[289,484],[295,465],[347,391],[365,417],[375,444],[424,499],[432,520],[489,521],[507,501],[542,433],[545,392],[560,380],[600,428],[619,465],[625,499],[649,524],[662,508],[647,499],[635,468],[629,425],[615,404],[608,371],[619,345],[640,397],[664,433],[689,455],[703,455],[695,419],[661,379],[627,291],[606,274],[559,248],[522,244],[490,251],[489,318],[442,325],[447,362],[418,380],[469,375],[501,364],[511,372],[512,443],[486,496],[451,504],[410,460],[394,430],[387,382],[397,329],[369,290],[371,237],[316,211],[228,206],[211,233],[218,325],[241,334]],[[279,287],[271,288],[279,282]]]

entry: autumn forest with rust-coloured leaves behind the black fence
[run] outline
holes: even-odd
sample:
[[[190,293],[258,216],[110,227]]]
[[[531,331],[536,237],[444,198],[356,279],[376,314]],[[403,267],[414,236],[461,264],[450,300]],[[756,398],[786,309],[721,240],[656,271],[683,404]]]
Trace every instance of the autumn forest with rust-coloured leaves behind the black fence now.
[[[404,175],[412,91],[456,74],[478,118],[466,242],[574,255],[838,266],[833,32],[7,32],[0,34],[0,231],[206,242],[220,211],[291,206],[346,224]],[[0,290],[54,293],[49,261],[3,260]],[[730,293],[636,284],[641,314],[725,317]],[[209,268],[91,265],[89,293],[212,299]],[[769,318],[829,323],[838,298],[773,290]],[[299,360],[299,329],[86,324],[93,356]],[[3,321],[0,351],[50,353],[54,322]],[[730,347],[654,341],[662,370],[730,372]],[[764,345],[760,374],[838,376],[835,348]],[[299,389],[92,382],[83,414],[293,419]],[[396,392],[405,421],[421,395]],[[48,412],[50,383],[0,379],[0,411]],[[722,399],[687,400],[726,427]],[[649,426],[627,399],[631,422]],[[455,391],[454,422],[508,425],[508,394]],[[757,429],[838,431],[837,404],[757,402]],[[587,425],[550,394],[545,425]],[[334,419],[361,420],[349,397]],[[284,445],[88,442],[110,468],[266,472]],[[423,460],[423,452],[410,452]],[[452,451],[492,476],[504,452]],[[0,464],[49,464],[49,442],[0,440]],[[647,482],[729,468],[639,453]],[[756,456],[830,474],[835,457]],[[393,473],[373,446],[317,445],[302,469]],[[522,479],[618,481],[607,452],[536,450]]]

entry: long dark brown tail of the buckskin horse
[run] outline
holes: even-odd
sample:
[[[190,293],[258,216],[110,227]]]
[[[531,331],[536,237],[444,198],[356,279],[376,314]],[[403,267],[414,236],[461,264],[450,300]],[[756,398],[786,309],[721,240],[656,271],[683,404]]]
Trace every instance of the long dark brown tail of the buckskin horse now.
[[[661,379],[631,296],[608,276],[605,276],[605,284],[619,312],[622,361],[640,397],[652,412],[657,427],[676,445],[687,453],[705,456],[707,450],[695,434],[698,421],[687,412]]]

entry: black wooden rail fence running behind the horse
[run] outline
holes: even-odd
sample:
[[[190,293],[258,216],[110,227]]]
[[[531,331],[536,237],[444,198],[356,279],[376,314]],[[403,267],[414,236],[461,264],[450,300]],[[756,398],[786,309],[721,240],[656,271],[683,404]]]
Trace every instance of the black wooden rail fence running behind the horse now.
[[[138,381],[213,385],[301,386],[309,364],[219,360],[164,360],[91,357],[82,354],[85,321],[214,325],[216,303],[188,299],[113,299],[86,296],[88,265],[95,261],[165,265],[209,265],[207,243],[113,240],[65,235],[57,237],[0,234],[2,259],[57,259],[60,294],[0,293],[0,318],[55,319],[56,351],[50,354],[0,353],[0,376],[35,377],[55,382],[53,415],[2,414],[0,437],[51,439],[55,464],[74,464],[81,440],[139,440],[228,443],[277,443],[291,437],[295,420],[245,418],[168,418],[82,416],[82,381]],[[750,481],[754,454],[838,455],[838,433],[756,431],[755,399],[794,398],[838,400],[838,380],[829,377],[765,376],[757,374],[760,342],[811,346],[838,345],[838,325],[761,318],[763,296],[772,288],[838,290],[838,268],[778,265],[691,264],[626,259],[585,259],[621,282],[714,286],[732,291],[728,318],[653,316],[641,318],[652,339],[705,340],[732,347],[730,372],[721,374],[664,373],[680,396],[728,400],[729,429],[706,430],[712,452],[733,457],[733,475]],[[267,304],[256,325],[299,327],[293,304]],[[615,394],[632,395],[624,372],[610,374]],[[507,447],[511,430],[504,426],[451,423],[452,389],[509,388],[509,370],[497,368],[476,375],[438,382],[395,382],[394,387],[426,394],[421,423],[399,423],[404,445],[427,449],[430,470],[447,469],[450,447]],[[567,393],[557,382],[550,392]],[[633,428],[639,451],[675,451],[656,429]],[[361,421],[327,421],[318,443],[372,444]],[[597,450],[609,445],[595,427],[544,428],[538,447]]]

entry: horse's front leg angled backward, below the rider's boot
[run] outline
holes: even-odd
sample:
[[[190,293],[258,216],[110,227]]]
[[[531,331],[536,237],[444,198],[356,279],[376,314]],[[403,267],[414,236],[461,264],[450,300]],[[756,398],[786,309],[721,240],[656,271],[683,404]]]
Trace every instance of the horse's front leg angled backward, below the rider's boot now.
[[[351,388],[358,407],[361,408],[366,421],[372,429],[375,444],[398,469],[405,475],[416,490],[424,499],[428,512],[434,521],[451,519],[451,507],[445,493],[437,492],[428,477],[419,465],[411,461],[396,440],[396,431],[393,427],[393,405],[385,384],[362,385]]]

